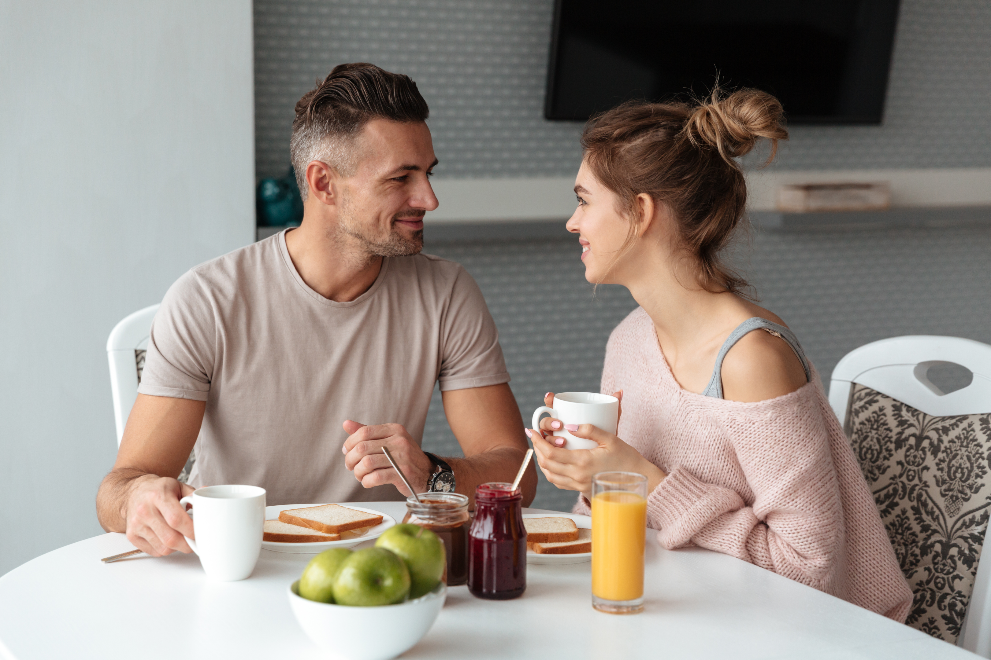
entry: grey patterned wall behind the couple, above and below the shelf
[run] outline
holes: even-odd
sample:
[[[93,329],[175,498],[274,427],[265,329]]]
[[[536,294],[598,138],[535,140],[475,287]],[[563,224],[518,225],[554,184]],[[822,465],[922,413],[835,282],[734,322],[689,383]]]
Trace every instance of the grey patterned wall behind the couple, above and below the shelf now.
[[[335,64],[408,73],[431,107],[441,177],[570,176],[580,126],[542,119],[552,0],[256,0],[259,176],[288,166],[292,108]],[[789,169],[991,165],[991,3],[903,0],[879,127],[796,127]],[[598,391],[609,331],[635,306],[585,282],[573,238],[430,243],[465,264],[500,330],[524,418],[549,389]],[[828,377],[847,351],[909,333],[991,342],[991,229],[754,237],[747,270]],[[435,393],[424,444],[459,453]],[[571,506],[542,483],[536,504]]]

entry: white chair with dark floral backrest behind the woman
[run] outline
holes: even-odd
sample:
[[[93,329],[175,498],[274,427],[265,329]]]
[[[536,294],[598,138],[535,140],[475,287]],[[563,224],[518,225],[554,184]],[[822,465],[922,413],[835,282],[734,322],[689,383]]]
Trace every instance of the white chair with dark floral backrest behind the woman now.
[[[973,374],[971,383],[943,393],[928,374],[932,367],[945,363],[969,369]],[[986,457],[991,448],[991,346],[971,339],[929,335],[874,341],[851,351],[836,364],[829,384],[829,404],[850,436],[903,569],[906,553],[912,552],[905,544],[906,538],[916,538],[920,544],[924,537],[930,542],[935,538],[939,547],[951,548],[953,566],[959,569],[949,576],[951,590],[953,585],[964,588],[972,570],[965,564],[975,555],[978,558],[956,644],[991,658],[991,552],[988,561],[980,561],[983,541],[976,553],[967,554],[966,542],[960,540],[961,529],[983,535],[991,513],[991,474],[986,470],[980,474],[988,467]],[[956,470],[952,477],[956,479],[961,469],[966,470],[961,465],[974,466],[973,478],[966,483],[971,490],[979,490],[953,492],[946,486],[951,479],[945,475]],[[906,496],[906,485],[914,485],[915,495]],[[955,527],[956,531],[934,532],[931,520],[938,518],[936,514],[942,516],[943,527]],[[981,517],[985,520],[984,529],[979,529]],[[969,519],[978,519],[978,524],[967,527]],[[928,532],[916,526],[921,523],[925,523],[923,528]],[[927,561],[925,553],[917,551],[908,563],[920,557]],[[909,579],[913,589],[926,593],[924,576],[915,578]],[[947,598],[954,602],[952,595]],[[930,614],[935,615],[939,626],[945,626],[947,616],[958,616],[952,610],[923,616]],[[958,622],[954,619],[953,624]],[[924,621],[913,624],[934,634]]]

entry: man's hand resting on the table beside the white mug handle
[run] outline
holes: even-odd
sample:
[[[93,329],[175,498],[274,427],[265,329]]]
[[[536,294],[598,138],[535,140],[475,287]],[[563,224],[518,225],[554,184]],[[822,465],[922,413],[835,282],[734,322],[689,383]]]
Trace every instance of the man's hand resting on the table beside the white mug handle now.
[[[179,499],[192,492],[192,487],[170,477],[147,474],[132,479],[123,512],[128,540],[153,557],[175,550],[192,552],[183,538],[195,538],[192,519],[185,513],[185,507],[179,505]]]

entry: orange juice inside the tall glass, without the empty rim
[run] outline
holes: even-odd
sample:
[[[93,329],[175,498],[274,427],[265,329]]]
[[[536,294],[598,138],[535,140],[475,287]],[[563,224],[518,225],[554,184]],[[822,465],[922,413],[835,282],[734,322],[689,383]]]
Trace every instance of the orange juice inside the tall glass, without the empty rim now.
[[[606,491],[592,498],[592,595],[607,601],[643,597],[647,501]]]

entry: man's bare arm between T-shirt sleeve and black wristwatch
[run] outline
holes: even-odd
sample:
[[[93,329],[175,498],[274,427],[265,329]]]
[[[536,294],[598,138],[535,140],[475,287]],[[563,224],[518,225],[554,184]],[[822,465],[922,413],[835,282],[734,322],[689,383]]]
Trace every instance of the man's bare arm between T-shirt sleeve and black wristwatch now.
[[[464,458],[445,458],[456,475],[459,493],[475,500],[475,487],[490,481],[512,481],[529,445],[523,419],[508,384],[441,392],[444,414],[458,438]],[[537,494],[537,469],[531,461],[520,490],[523,506]]]

